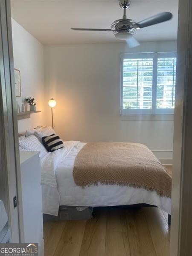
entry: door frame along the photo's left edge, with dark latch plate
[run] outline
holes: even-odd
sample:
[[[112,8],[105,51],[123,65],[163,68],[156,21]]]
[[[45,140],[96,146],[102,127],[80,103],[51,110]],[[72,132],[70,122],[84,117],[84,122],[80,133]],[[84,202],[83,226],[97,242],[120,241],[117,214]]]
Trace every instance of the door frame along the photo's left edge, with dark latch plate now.
[[[5,204],[12,233],[12,243],[19,243],[17,179],[20,174],[17,110],[12,49],[10,0],[0,0],[0,199]],[[19,191],[20,192],[20,191]],[[21,212],[22,214],[22,212]]]

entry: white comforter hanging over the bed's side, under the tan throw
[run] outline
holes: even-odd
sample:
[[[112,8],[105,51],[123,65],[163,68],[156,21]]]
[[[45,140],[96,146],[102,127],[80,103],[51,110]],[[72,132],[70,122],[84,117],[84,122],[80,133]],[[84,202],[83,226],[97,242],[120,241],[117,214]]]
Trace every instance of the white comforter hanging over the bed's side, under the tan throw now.
[[[151,204],[171,213],[171,199],[155,191],[118,185],[87,186],[82,189],[73,180],[76,155],[86,143],[69,141],[64,148],[48,153],[41,159],[43,212],[58,215],[59,205],[115,206]]]

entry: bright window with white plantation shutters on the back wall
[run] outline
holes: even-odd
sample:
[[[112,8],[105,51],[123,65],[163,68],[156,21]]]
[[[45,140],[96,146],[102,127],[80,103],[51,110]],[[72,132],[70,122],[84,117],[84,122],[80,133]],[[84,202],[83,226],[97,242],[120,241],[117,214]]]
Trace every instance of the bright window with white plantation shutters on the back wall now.
[[[174,113],[175,76],[176,52],[122,54],[121,113]]]

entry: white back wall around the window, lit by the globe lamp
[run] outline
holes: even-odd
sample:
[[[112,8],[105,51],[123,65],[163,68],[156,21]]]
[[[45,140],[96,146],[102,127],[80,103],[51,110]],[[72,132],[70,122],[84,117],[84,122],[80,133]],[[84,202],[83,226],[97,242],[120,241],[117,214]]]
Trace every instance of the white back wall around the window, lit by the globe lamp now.
[[[119,115],[120,53],[153,51],[176,51],[176,42],[145,42],[132,49],[122,43],[46,46],[46,100],[57,101],[56,132],[64,140],[143,143],[171,157],[173,121],[122,121]],[[50,109],[47,118],[51,124]]]

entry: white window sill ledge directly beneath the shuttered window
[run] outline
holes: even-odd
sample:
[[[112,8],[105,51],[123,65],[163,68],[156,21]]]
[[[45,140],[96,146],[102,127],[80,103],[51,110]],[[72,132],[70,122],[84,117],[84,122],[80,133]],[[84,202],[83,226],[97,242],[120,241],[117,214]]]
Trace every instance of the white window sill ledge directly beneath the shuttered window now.
[[[174,114],[120,114],[121,121],[174,121]]]

